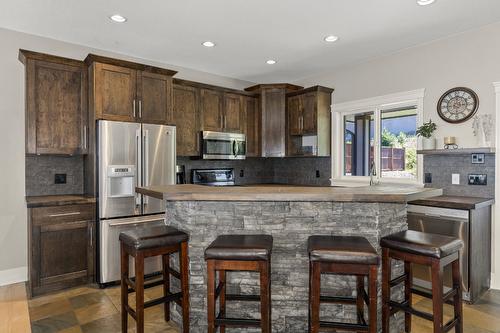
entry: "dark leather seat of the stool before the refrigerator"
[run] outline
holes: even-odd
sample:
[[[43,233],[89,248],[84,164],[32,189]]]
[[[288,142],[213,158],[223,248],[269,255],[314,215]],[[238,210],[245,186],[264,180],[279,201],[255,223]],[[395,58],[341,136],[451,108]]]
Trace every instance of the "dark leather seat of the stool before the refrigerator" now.
[[[188,239],[188,234],[167,225],[134,229],[120,233],[120,241],[136,250],[172,246]]]

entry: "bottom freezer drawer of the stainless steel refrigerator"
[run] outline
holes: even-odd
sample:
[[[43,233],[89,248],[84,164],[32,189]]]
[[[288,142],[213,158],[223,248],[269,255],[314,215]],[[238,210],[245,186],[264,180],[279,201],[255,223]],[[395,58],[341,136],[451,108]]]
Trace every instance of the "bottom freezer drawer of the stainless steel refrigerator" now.
[[[165,224],[164,214],[101,220],[100,227],[100,283],[120,280],[121,232]],[[135,276],[134,264],[130,260],[130,276]],[[144,261],[145,274],[161,271],[161,257],[150,257]]]

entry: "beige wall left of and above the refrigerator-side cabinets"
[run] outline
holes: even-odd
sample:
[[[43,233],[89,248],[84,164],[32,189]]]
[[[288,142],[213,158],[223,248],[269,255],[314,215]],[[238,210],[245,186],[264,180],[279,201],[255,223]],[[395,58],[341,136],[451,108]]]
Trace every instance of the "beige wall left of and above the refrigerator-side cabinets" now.
[[[20,48],[84,59],[89,52],[136,60],[177,70],[178,78],[231,88],[252,82],[211,75],[168,64],[148,62],[52,39],[0,29],[0,285],[18,280],[27,264],[24,202],[24,76],[17,60]]]

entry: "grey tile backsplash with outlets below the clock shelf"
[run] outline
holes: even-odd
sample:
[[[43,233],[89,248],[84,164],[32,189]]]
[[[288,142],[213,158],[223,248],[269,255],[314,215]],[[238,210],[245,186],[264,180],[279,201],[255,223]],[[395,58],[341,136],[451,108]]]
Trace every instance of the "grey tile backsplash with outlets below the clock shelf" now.
[[[495,154],[485,154],[484,164],[473,164],[470,154],[425,155],[424,173],[432,174],[432,183],[426,187],[442,188],[446,195],[494,197]],[[451,175],[460,174],[460,184],[452,184]],[[468,185],[469,174],[486,174],[487,185]]]

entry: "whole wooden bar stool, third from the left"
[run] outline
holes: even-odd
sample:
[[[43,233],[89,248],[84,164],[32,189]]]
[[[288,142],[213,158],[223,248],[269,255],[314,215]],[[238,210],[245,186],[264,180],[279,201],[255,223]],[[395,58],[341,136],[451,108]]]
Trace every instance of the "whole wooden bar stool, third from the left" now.
[[[309,331],[320,329],[375,333],[377,331],[377,272],[379,256],[368,240],[357,236],[311,236],[309,252]],[[356,297],[321,295],[321,274],[355,275]],[[368,293],[365,291],[368,277]],[[320,321],[320,303],[355,304],[357,323]],[[368,324],[364,306],[368,306]]]

